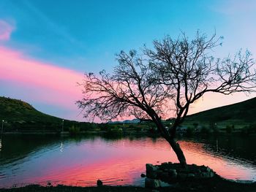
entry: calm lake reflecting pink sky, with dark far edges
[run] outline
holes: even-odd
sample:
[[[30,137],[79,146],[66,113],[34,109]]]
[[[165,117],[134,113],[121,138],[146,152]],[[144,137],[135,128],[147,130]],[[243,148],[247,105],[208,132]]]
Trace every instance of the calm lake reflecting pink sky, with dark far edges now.
[[[181,139],[188,164],[206,165],[232,180],[256,181],[256,137]],[[0,188],[40,185],[144,185],[145,164],[177,162],[165,139],[4,135]]]

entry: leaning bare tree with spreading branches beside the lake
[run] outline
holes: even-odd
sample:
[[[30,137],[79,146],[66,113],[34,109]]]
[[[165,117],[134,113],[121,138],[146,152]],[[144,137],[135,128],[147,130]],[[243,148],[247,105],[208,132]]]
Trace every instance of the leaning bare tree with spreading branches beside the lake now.
[[[154,41],[153,49],[121,51],[113,74],[105,71],[85,74],[83,99],[78,107],[85,117],[112,120],[118,116],[134,115],[140,120],[151,120],[157,126],[178,157],[186,166],[186,158],[176,142],[176,128],[189,111],[189,106],[204,93],[231,94],[252,92],[255,86],[255,61],[251,54],[241,51],[234,58],[214,59],[211,53],[220,45],[215,34],[207,39],[197,32],[189,41],[185,34],[178,39],[165,37]],[[169,130],[162,119],[176,112]]]

